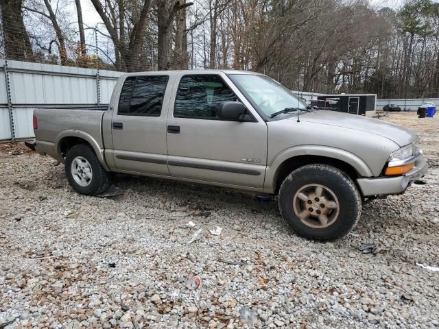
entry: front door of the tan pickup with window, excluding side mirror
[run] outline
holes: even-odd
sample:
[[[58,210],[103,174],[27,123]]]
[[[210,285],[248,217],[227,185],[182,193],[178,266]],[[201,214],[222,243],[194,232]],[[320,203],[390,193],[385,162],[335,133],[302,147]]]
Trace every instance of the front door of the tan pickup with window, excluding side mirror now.
[[[267,125],[224,73],[182,75],[167,119],[169,173],[227,186],[263,188]],[[223,121],[223,101],[241,101],[251,120]]]

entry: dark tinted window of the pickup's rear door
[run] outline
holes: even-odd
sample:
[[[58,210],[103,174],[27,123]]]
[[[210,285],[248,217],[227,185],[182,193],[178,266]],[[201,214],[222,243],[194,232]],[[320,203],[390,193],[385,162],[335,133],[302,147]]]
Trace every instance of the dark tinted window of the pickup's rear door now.
[[[168,80],[169,77],[165,75],[127,77],[121,90],[117,114],[159,117]]]

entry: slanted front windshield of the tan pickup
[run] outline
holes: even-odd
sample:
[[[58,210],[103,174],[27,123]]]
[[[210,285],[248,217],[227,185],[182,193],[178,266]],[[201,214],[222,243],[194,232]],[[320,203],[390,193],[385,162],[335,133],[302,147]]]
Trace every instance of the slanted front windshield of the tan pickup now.
[[[229,77],[250,103],[268,117],[285,108],[307,108],[305,101],[266,75],[230,74]]]

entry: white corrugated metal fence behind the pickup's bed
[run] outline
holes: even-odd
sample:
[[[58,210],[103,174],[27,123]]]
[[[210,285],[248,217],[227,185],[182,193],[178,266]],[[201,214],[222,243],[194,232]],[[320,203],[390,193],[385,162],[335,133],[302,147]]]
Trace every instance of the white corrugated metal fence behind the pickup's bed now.
[[[34,108],[97,104],[97,70],[8,60],[14,137],[32,138]],[[99,70],[99,103],[110,102],[122,72]],[[6,93],[5,60],[0,60],[0,141],[12,138]]]

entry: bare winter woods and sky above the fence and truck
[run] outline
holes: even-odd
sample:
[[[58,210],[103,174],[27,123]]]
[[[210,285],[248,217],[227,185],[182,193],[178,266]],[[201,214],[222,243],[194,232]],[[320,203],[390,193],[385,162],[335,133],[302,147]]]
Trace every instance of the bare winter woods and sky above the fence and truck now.
[[[0,56],[127,72],[241,69],[294,90],[439,97],[439,3],[189,1],[0,0]]]

